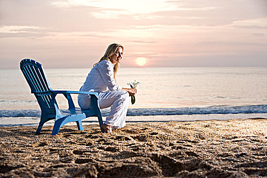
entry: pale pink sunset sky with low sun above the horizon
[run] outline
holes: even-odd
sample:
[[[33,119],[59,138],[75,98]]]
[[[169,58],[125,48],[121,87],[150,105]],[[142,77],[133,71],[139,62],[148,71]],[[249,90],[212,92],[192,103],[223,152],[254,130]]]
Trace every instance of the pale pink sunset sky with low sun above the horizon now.
[[[121,67],[267,67],[267,1],[0,0],[0,69],[92,68],[111,43]]]

